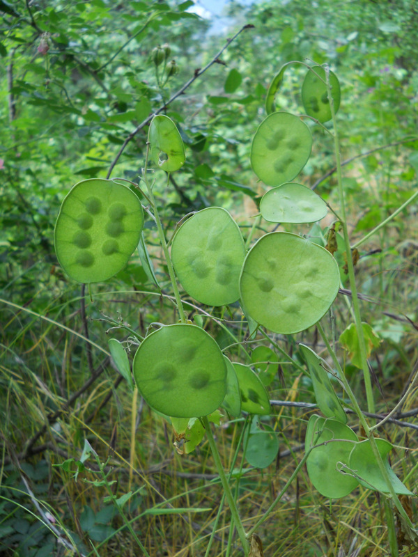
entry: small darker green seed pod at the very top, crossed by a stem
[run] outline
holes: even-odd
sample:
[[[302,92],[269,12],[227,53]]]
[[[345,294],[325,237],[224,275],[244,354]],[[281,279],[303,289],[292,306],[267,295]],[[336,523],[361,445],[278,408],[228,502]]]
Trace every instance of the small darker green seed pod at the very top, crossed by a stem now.
[[[319,76],[319,77],[318,77]],[[320,79],[322,78],[322,79]],[[308,70],[302,84],[302,102],[308,116],[316,118],[321,123],[331,120],[332,114],[328,100],[327,86],[325,85],[325,69],[314,65]],[[335,113],[339,109],[341,90],[336,75],[330,71],[331,94],[334,99]]]

